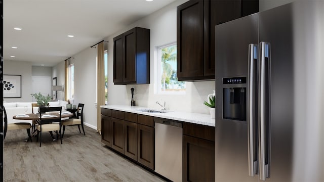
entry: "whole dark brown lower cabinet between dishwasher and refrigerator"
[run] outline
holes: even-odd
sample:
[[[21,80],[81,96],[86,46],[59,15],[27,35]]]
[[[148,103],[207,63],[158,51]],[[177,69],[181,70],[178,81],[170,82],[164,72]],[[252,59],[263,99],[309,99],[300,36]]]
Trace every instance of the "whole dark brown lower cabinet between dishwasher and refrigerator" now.
[[[215,181],[215,127],[183,123],[182,180]]]

